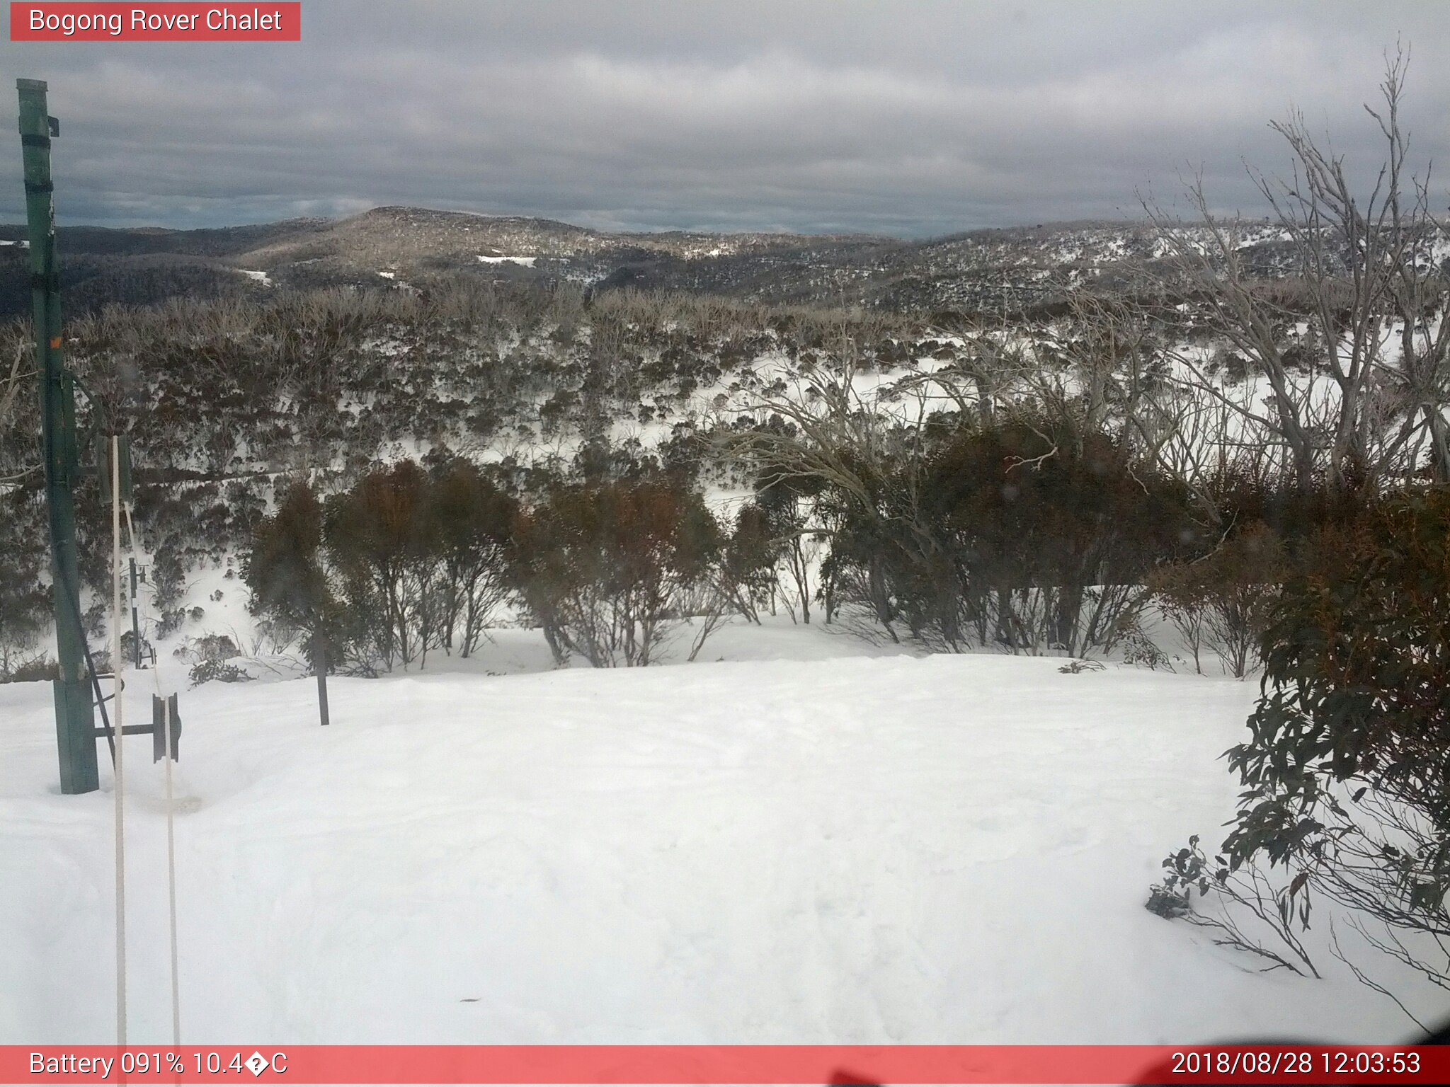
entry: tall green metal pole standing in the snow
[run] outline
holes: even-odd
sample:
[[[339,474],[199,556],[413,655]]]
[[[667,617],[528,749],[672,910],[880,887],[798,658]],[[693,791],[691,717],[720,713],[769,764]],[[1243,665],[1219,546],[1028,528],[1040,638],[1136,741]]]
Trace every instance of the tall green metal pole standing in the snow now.
[[[30,286],[35,300],[35,361],[41,375],[41,426],[45,446],[45,499],[51,515],[51,562],[55,581],[55,739],[61,754],[61,791],[100,788],[96,768],[94,707],[86,671],[86,635],[80,628],[80,574],[75,562],[78,477],[75,388],[61,358],[61,290],[55,267],[55,201],[51,184],[51,136],[45,83],[16,80],[20,91],[20,143],[25,152],[25,215],[30,228]]]

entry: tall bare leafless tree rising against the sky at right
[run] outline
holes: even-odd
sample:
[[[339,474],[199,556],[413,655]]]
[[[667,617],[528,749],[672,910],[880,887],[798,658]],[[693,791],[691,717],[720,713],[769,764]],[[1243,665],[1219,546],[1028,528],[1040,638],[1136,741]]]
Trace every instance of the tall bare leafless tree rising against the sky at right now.
[[[1254,272],[1246,225],[1212,212],[1202,178],[1188,190],[1190,222],[1144,201],[1176,258],[1164,286],[1202,299],[1212,332],[1270,394],[1230,393],[1192,348],[1176,354],[1180,380],[1219,400],[1262,441],[1282,445],[1305,484],[1320,474],[1341,484],[1356,472],[1373,480],[1412,472],[1421,451],[1438,478],[1450,478],[1450,329],[1436,322],[1450,284],[1433,261],[1444,226],[1430,212],[1428,175],[1408,167],[1406,67],[1402,49],[1388,58],[1382,103],[1366,106],[1385,148],[1367,196],[1301,113],[1272,123],[1293,155],[1292,177],[1250,172],[1289,246],[1292,290]]]

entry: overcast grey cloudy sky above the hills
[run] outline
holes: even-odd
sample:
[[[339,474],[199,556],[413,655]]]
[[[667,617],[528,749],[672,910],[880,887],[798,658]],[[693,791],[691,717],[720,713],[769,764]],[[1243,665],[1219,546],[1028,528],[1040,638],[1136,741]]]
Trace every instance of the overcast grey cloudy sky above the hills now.
[[[1446,162],[1450,4],[1430,0],[304,0],[300,43],[4,42],[0,70],[6,94],[51,84],[68,223],[420,204],[928,236],[1134,216],[1190,170],[1257,215],[1244,161],[1288,168],[1267,122],[1290,106],[1366,170],[1396,39],[1415,162]]]

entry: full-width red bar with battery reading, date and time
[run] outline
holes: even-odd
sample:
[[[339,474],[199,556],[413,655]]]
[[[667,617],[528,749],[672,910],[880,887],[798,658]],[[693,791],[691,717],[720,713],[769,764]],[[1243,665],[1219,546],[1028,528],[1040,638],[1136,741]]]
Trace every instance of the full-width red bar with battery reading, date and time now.
[[[1450,1046],[7,1045],[0,1083],[1430,1084]]]

